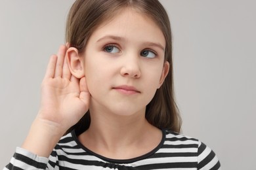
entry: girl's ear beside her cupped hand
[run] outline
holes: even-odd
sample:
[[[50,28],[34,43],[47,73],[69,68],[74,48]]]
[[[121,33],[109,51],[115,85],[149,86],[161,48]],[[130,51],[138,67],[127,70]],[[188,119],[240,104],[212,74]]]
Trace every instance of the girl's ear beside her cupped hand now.
[[[79,57],[77,48],[68,48],[66,56],[70,73],[76,78],[82,78],[85,76],[83,71],[83,58]]]

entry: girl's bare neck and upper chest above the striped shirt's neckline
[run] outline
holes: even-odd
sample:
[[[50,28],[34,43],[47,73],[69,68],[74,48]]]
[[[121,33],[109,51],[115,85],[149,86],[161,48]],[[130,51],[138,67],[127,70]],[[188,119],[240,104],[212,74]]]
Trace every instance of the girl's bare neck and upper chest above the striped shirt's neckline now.
[[[161,131],[148,123],[145,110],[129,116],[91,112],[90,127],[79,136],[79,141],[108,158],[134,158],[158,146]]]

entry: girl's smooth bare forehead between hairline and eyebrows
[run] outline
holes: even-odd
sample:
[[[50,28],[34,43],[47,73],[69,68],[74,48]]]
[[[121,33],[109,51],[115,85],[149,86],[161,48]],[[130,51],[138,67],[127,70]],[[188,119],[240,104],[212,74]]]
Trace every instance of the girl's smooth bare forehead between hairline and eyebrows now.
[[[165,37],[159,25],[148,15],[132,8],[114,12],[113,16],[96,27],[92,37],[105,35],[115,35],[131,41],[157,41],[165,46]]]

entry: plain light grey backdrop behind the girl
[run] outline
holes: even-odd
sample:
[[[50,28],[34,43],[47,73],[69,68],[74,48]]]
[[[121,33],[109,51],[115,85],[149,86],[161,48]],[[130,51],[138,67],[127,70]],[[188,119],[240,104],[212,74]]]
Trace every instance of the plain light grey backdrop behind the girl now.
[[[51,54],[74,1],[0,1],[0,169],[37,114]],[[223,169],[256,169],[256,2],[161,1],[171,18],[182,132],[210,146]]]

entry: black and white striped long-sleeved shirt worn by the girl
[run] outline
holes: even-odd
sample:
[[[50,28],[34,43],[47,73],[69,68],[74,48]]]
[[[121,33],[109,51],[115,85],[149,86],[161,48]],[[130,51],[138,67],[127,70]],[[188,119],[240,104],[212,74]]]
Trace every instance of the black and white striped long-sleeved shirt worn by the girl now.
[[[7,169],[221,169],[213,150],[197,139],[163,130],[161,143],[151,152],[129,160],[100,156],[79,143],[75,132],[56,144],[51,156],[43,158],[16,148]]]

